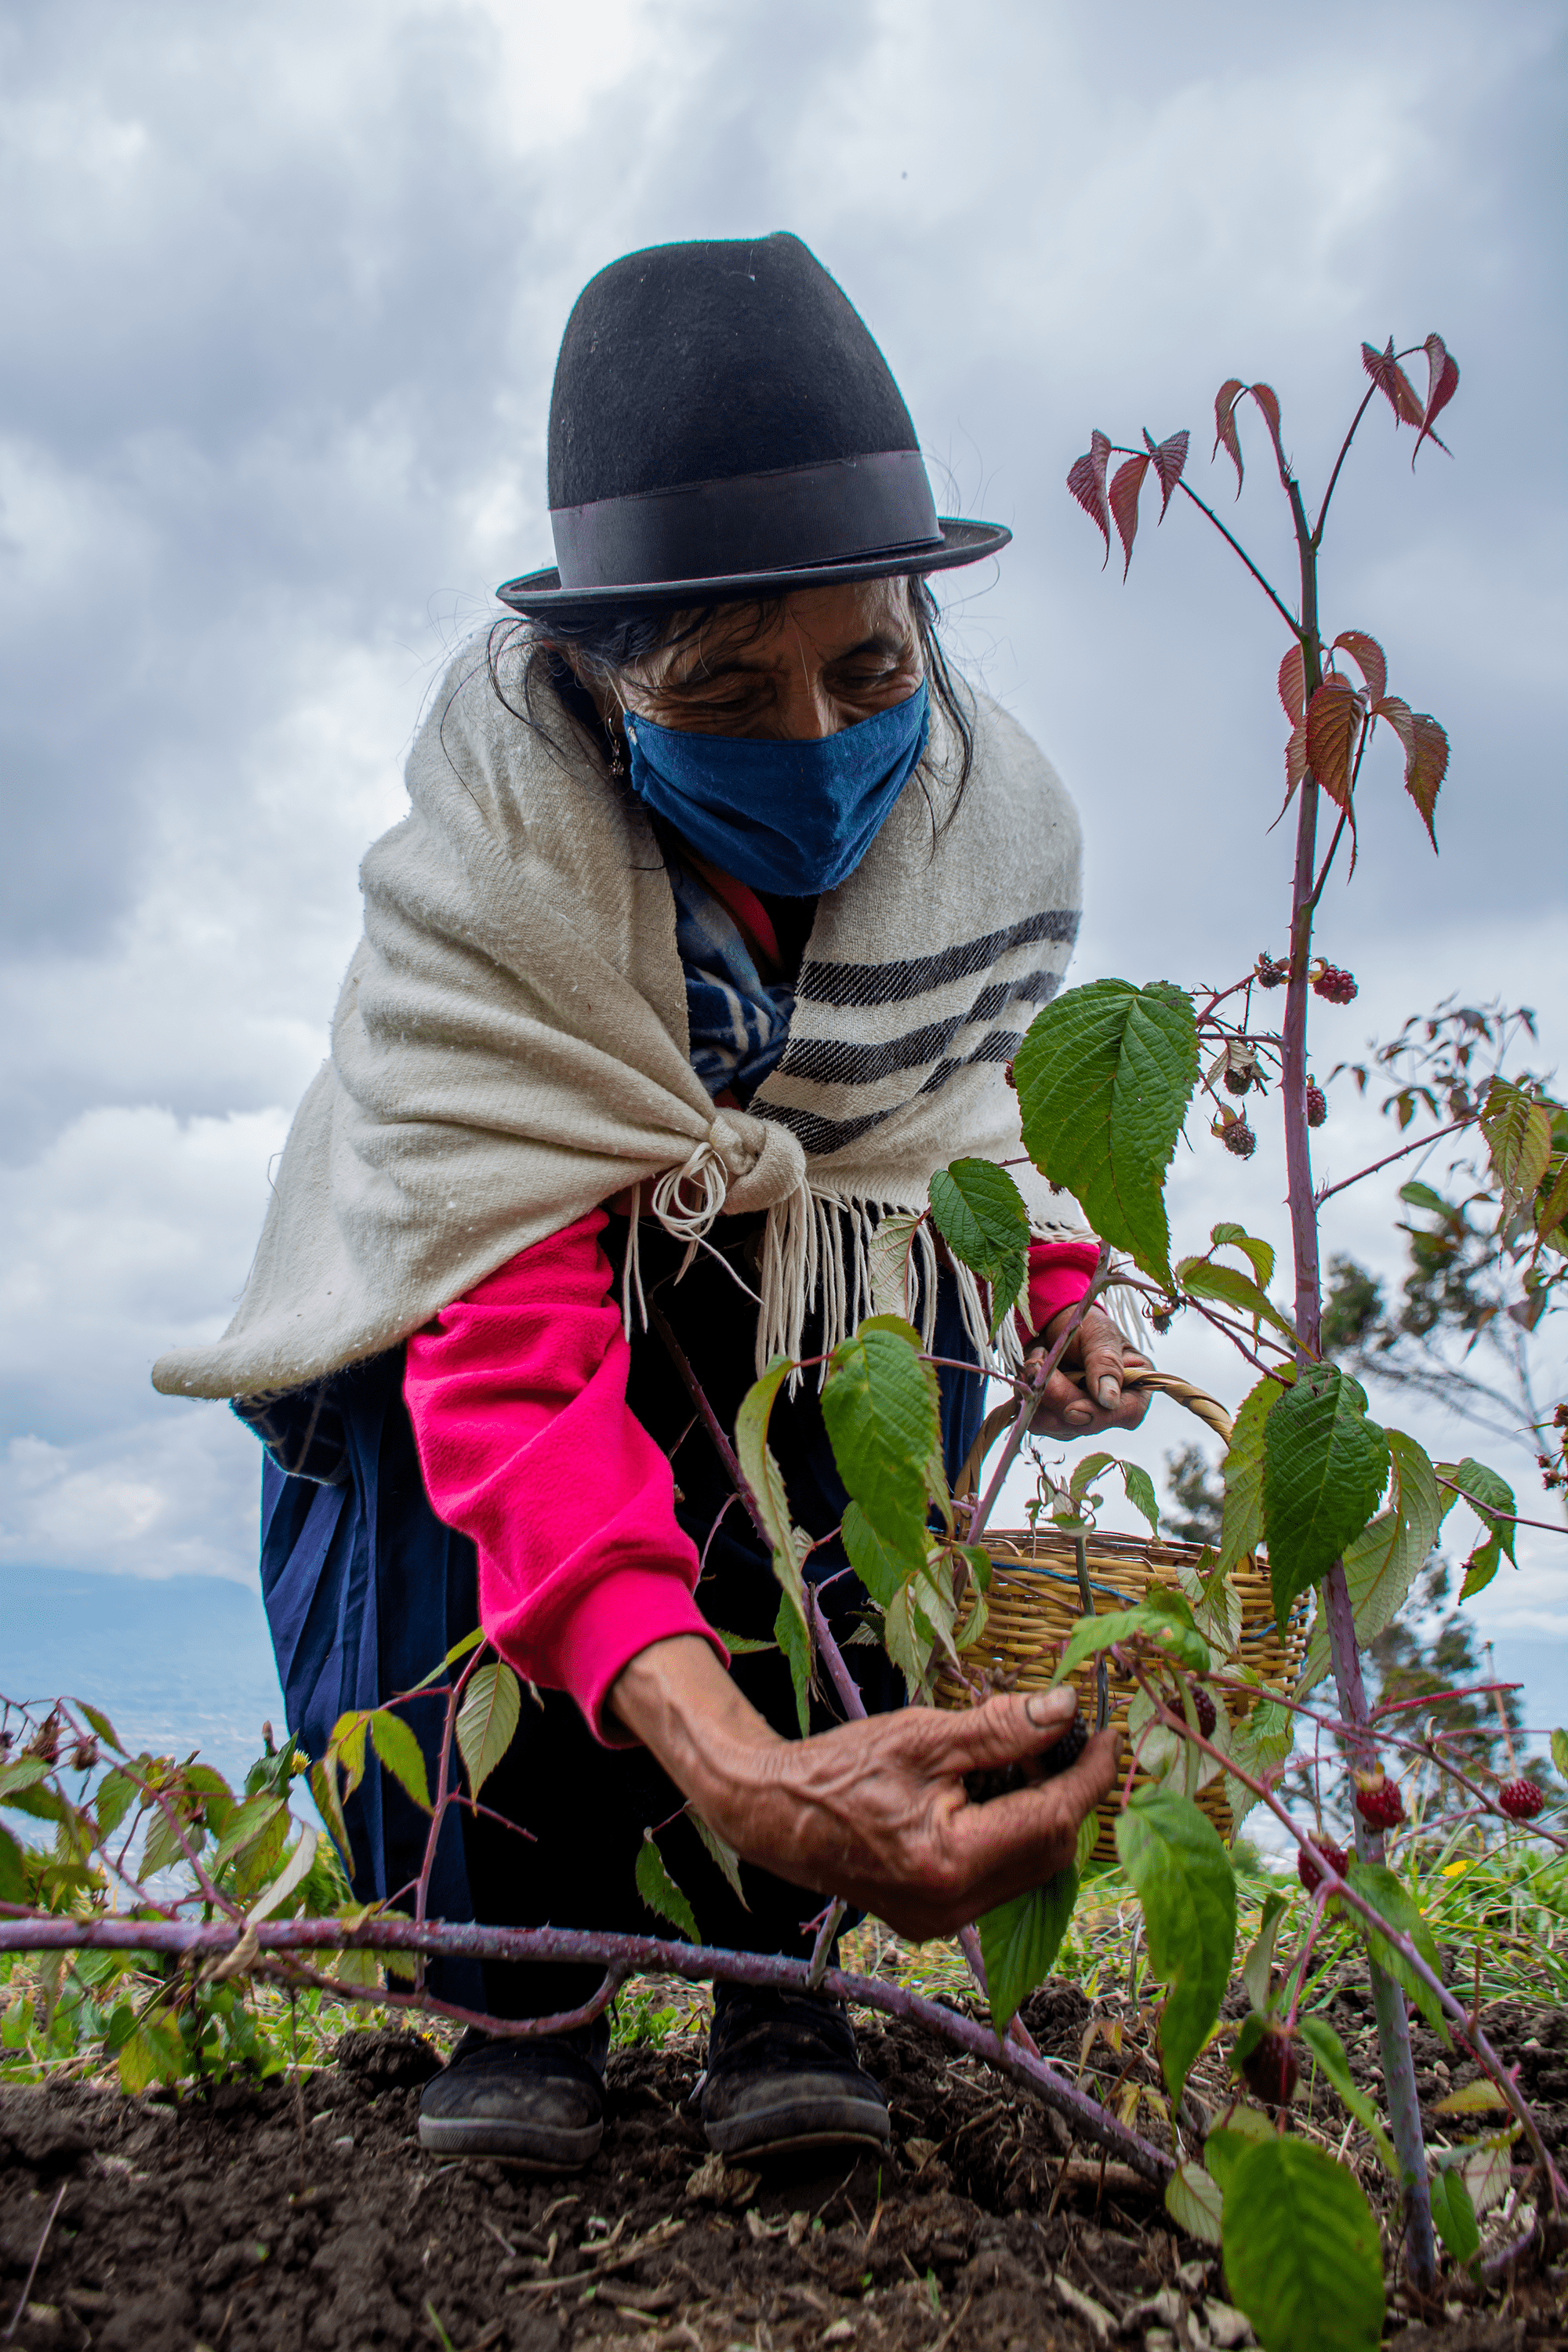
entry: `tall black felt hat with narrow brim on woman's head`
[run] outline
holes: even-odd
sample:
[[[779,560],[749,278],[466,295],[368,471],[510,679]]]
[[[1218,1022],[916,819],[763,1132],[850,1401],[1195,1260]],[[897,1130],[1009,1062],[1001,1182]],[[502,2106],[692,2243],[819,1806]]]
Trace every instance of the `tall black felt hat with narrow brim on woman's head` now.
[[[515,612],[691,604],[945,572],[999,522],[938,517],[865,320],[799,238],[651,245],[576,299],[550,393],[555,569]]]

